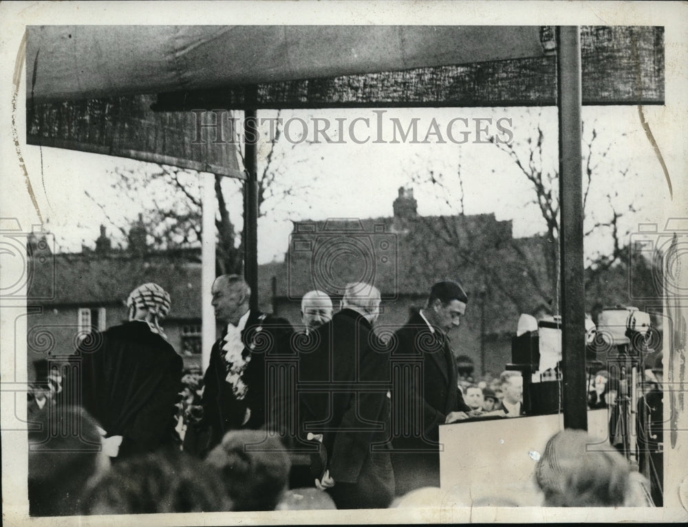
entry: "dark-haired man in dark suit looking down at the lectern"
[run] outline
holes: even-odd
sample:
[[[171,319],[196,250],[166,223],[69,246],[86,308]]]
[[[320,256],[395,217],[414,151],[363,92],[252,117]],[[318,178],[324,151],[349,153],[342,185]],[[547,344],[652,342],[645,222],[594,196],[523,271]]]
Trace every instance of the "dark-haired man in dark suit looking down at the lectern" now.
[[[391,341],[392,464],[396,495],[440,486],[440,425],[469,417],[458,390],[449,330],[460,325],[468,296],[459,282],[434,284],[424,309]]]

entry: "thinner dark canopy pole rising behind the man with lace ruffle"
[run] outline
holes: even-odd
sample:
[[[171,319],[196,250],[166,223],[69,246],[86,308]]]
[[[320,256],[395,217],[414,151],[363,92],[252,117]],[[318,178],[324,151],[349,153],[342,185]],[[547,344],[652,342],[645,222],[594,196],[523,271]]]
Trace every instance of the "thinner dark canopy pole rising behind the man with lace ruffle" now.
[[[258,309],[258,117],[255,102],[258,88],[246,88],[244,113],[244,278],[251,288],[250,309]]]

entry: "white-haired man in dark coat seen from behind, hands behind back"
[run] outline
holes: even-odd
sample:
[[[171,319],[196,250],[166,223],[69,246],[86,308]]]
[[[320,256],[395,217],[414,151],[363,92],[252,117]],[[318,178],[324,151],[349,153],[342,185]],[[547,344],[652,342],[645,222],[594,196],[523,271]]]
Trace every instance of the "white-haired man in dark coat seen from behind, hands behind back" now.
[[[386,508],[394,497],[389,458],[389,357],[373,333],[380,292],[347,284],[342,310],[299,353],[299,439],[327,453],[316,482],[337,508]]]

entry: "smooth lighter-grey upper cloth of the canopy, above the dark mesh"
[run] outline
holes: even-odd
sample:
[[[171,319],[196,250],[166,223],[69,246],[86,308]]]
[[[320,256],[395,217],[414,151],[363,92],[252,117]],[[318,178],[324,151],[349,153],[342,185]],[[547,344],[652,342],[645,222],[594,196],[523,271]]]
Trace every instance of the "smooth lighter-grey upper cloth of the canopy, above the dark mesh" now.
[[[34,103],[544,55],[537,25],[51,25],[27,32]]]

